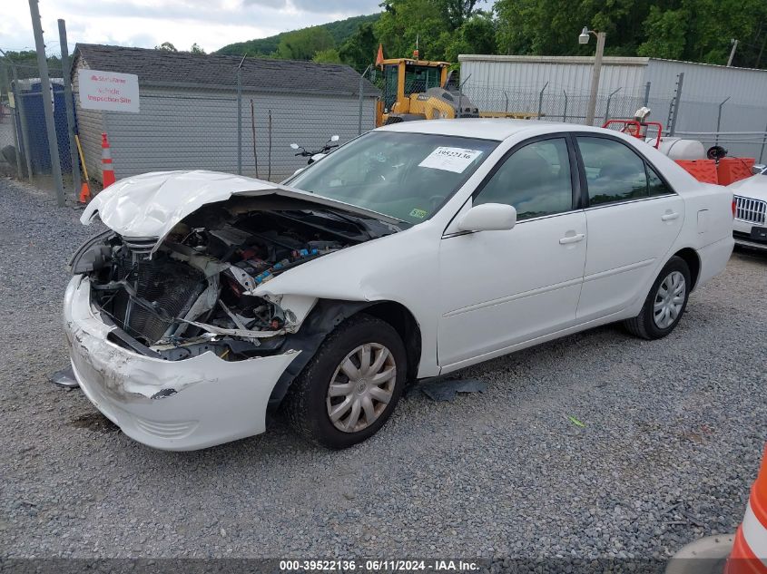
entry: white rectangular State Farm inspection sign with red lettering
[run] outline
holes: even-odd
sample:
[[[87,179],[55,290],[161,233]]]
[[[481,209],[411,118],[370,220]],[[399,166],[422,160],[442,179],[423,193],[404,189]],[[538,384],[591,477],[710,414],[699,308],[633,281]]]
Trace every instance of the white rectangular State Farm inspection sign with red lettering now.
[[[139,77],[133,73],[78,71],[80,105],[86,110],[139,112]]]

